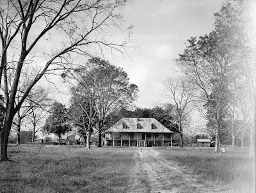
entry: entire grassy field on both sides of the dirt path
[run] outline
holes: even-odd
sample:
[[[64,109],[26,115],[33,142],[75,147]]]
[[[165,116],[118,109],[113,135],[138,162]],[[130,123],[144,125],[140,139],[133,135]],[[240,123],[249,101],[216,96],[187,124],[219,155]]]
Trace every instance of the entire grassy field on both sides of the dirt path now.
[[[0,192],[127,192],[138,159],[137,148],[79,146],[9,147],[16,162],[0,162]],[[209,149],[157,148],[189,174],[225,187],[252,192],[254,160],[247,150],[218,155]]]

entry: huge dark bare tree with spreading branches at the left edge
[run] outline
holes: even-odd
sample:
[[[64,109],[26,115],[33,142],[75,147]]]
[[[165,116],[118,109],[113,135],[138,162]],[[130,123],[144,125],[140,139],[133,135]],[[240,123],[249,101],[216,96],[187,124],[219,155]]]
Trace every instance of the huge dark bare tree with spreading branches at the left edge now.
[[[8,160],[7,143],[13,117],[36,82],[45,75],[57,73],[56,70],[73,68],[81,57],[97,52],[103,54],[105,49],[124,53],[129,38],[116,42],[117,39],[106,35],[108,30],[122,30],[120,8],[124,3],[125,0],[1,1],[0,86],[6,108],[0,130],[1,161]],[[24,66],[35,68],[36,75],[15,105],[20,74],[26,73]],[[8,87],[10,69],[13,70],[13,81]]]

